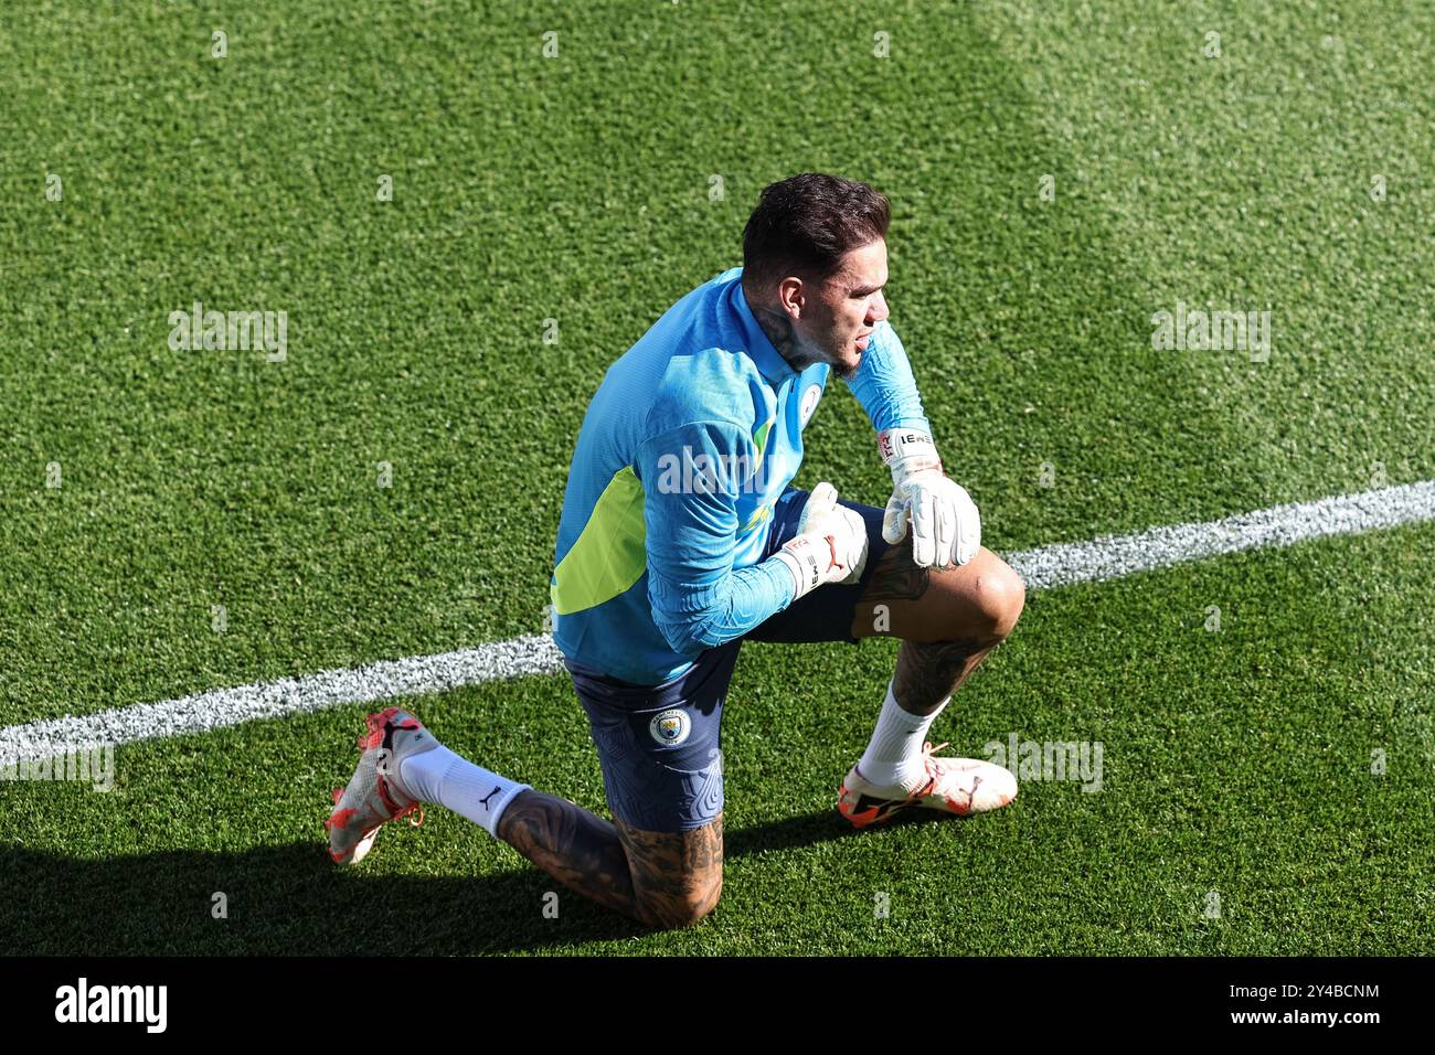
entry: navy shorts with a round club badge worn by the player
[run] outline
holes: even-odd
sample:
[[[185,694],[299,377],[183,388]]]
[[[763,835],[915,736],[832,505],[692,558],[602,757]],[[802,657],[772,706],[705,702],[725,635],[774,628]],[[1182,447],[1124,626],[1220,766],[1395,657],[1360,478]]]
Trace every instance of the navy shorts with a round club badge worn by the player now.
[[[772,512],[763,560],[796,535],[808,492],[788,488]],[[854,642],[852,616],[887,543],[883,511],[838,500],[867,524],[867,567],[824,586],[743,637],[709,649],[663,685],[631,685],[568,662],[588,715],[613,815],[641,831],[692,831],[722,812],[722,705],[743,642]]]

